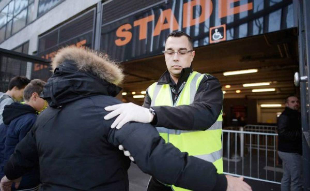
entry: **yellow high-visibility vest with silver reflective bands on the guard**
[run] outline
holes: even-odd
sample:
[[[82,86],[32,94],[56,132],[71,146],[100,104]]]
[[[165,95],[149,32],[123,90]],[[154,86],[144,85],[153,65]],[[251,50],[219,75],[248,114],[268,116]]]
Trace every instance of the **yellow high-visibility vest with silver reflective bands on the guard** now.
[[[182,89],[177,101],[173,104],[169,84],[157,84],[155,82],[148,88],[148,94],[152,99],[153,106],[179,106],[193,103],[198,86],[203,78],[203,74],[192,72]],[[217,121],[207,130],[170,130],[164,127],[156,127],[159,135],[165,139],[166,143],[171,143],[179,148],[181,152],[188,152],[189,155],[212,162],[219,174],[223,173],[222,157],[222,113]],[[207,172],[206,172],[207,173]],[[185,191],[174,185],[171,186],[175,191]]]

